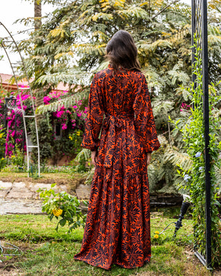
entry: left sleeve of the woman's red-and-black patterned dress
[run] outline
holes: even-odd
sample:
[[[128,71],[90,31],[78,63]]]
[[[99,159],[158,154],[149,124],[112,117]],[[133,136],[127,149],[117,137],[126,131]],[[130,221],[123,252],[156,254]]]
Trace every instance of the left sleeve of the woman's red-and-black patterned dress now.
[[[90,86],[86,127],[84,138],[81,143],[83,148],[97,150],[99,147],[99,132],[102,128],[103,115],[104,110],[102,96],[99,83],[95,75]]]

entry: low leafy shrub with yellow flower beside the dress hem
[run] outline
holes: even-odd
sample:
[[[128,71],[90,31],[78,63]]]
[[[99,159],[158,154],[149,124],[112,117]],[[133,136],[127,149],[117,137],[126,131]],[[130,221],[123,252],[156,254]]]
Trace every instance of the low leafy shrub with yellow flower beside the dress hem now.
[[[58,230],[59,225],[65,226],[66,223],[69,226],[68,232],[79,226],[84,226],[86,215],[81,213],[79,208],[80,201],[77,197],[68,195],[64,191],[55,193],[55,190],[53,190],[55,185],[56,184],[52,184],[50,190],[47,190],[46,188],[40,188],[37,190],[39,197],[44,200],[42,212],[48,214],[50,221],[53,217],[59,219],[55,230]],[[87,205],[87,202],[84,201],[84,204]]]

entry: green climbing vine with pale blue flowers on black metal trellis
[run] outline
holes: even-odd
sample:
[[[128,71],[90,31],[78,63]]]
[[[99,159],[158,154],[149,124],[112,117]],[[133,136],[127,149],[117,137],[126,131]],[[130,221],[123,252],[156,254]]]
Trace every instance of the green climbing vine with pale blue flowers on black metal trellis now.
[[[197,48],[197,46],[195,46]],[[193,95],[191,115],[189,124],[186,124],[181,129],[184,137],[184,145],[189,155],[190,166],[180,163],[179,174],[184,177],[184,182],[180,186],[187,190],[191,196],[193,203],[193,227],[194,227],[194,245],[200,250],[200,253],[206,255],[206,189],[205,189],[205,157],[204,157],[204,117],[203,117],[203,90],[202,90],[202,60],[199,56],[200,48],[197,48],[195,53],[195,64],[193,72],[196,75],[197,86],[193,84],[189,89]],[[217,83],[218,85],[219,83]],[[211,177],[211,250],[212,250],[212,266],[220,265],[221,259],[221,242],[218,237],[221,235],[221,224],[218,217],[218,172],[220,172],[220,157],[221,149],[220,141],[220,124],[219,118],[216,116],[218,110],[215,105],[221,101],[221,96],[217,91],[217,86],[212,83],[209,93],[209,154],[210,154],[210,177]]]

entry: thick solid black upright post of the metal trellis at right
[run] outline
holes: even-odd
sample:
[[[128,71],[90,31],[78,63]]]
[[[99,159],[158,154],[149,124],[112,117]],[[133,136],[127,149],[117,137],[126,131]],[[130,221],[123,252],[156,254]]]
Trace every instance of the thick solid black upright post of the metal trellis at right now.
[[[205,141],[205,185],[206,185],[206,265],[211,265],[211,177],[209,157],[209,83],[208,83],[208,38],[207,0],[202,0],[202,89]]]

